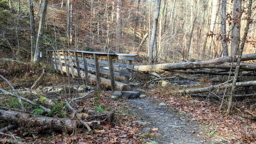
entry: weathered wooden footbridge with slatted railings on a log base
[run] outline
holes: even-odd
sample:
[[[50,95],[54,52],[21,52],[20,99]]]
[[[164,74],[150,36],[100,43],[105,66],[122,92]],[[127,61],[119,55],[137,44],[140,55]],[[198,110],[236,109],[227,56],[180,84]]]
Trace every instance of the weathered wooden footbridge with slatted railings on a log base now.
[[[112,91],[129,91],[129,77],[132,76],[132,60],[138,54],[114,54],[105,52],[87,52],[87,51],[67,51],[54,50],[47,51],[48,59],[52,68],[58,73],[66,73],[67,76],[85,80],[99,87],[112,89]],[[95,75],[88,73],[95,72]],[[109,75],[108,78],[100,77],[100,74]],[[124,83],[116,82],[116,77],[124,76]]]

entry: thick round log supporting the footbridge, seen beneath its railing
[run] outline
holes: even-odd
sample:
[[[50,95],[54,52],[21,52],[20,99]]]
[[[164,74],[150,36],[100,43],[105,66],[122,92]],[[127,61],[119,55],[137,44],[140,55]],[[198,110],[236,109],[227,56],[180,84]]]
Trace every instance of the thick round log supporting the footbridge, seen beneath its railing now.
[[[69,74],[71,74],[72,70],[71,70],[70,67],[68,67],[68,68],[69,68]],[[54,64],[54,69],[56,70],[55,64]],[[61,69],[60,66],[58,66],[58,70],[59,70],[59,71],[60,71],[60,69]],[[66,67],[62,67],[62,70],[63,70],[63,72],[67,73]],[[83,71],[80,71],[80,72],[81,72],[81,77],[82,77],[83,79],[85,79],[85,74],[84,74],[84,72],[83,72]],[[75,75],[75,76],[78,76],[78,73],[77,73],[77,69],[76,69],[76,68],[74,68],[74,75]],[[89,82],[90,82],[90,84],[92,84],[92,85],[97,85],[96,76],[95,76],[95,75],[92,75],[92,74],[90,74],[90,73],[88,73],[88,75],[89,75]],[[101,85],[103,85],[105,88],[112,89],[112,87],[111,87],[111,81],[110,81],[109,79],[100,77],[100,82],[101,82]],[[131,90],[131,86],[128,85],[128,84],[124,84],[124,83],[121,83],[121,82],[117,82],[117,81],[116,81],[116,90],[117,90],[117,91],[130,91],[130,90]]]

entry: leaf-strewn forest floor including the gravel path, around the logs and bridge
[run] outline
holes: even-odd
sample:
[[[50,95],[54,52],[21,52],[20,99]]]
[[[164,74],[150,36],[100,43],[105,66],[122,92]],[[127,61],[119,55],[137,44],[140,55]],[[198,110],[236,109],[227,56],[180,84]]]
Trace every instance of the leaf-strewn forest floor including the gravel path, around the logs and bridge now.
[[[0,73],[11,80],[17,90],[25,90],[31,87],[34,81],[40,76],[42,70],[33,68],[23,63],[2,63]],[[38,88],[49,89],[52,87],[63,87],[63,77],[46,70],[44,80]],[[19,72],[19,73],[17,73]],[[36,76],[36,77],[35,77]],[[145,76],[138,76],[145,77]],[[141,79],[140,79],[141,80]],[[173,90],[179,88],[175,85],[165,87],[155,86],[151,89],[138,89],[142,83],[135,80],[136,88],[134,91],[146,92],[145,98],[138,99],[112,99],[112,92],[100,90],[91,93],[90,99],[77,101],[79,108],[95,109],[100,107],[106,111],[115,113],[115,123],[102,124],[101,133],[88,132],[86,128],[79,127],[77,131],[65,133],[60,131],[39,132],[38,127],[28,128],[20,125],[12,131],[14,136],[20,137],[24,143],[250,143],[255,144],[256,122],[251,116],[246,114],[244,107],[252,106],[255,101],[247,105],[237,101],[240,111],[233,110],[231,115],[226,115],[225,110],[219,111],[218,105],[221,101],[216,99],[203,99],[200,97],[190,97],[188,95],[173,94]],[[61,82],[61,83],[60,83]],[[63,82],[63,83],[62,83]],[[65,81],[67,84],[67,81]],[[70,81],[73,87],[77,87],[76,81]],[[58,85],[59,84],[59,85]],[[135,84],[135,83],[134,83]],[[1,87],[8,87],[1,83]],[[55,88],[54,88],[55,89]],[[37,89],[36,89],[37,90]],[[34,90],[35,91],[35,90]],[[48,93],[42,93],[48,95]],[[29,92],[25,92],[27,95]],[[36,95],[32,94],[35,99]],[[38,95],[38,94],[37,94]],[[63,102],[68,97],[63,97],[63,93],[57,93],[52,99],[58,98]],[[1,98],[2,96],[0,96]],[[1,99],[14,103],[11,97]],[[8,100],[10,99],[10,100]],[[241,107],[244,106],[244,107]],[[31,108],[30,108],[31,110]],[[60,109],[65,110],[65,109]],[[32,109],[33,111],[33,109]],[[256,111],[253,116],[256,115]],[[70,118],[69,115],[67,117]],[[8,122],[0,121],[0,128],[8,126]],[[101,130],[99,129],[99,130]],[[22,136],[22,131],[29,130],[28,136]],[[9,133],[8,132],[8,133]],[[7,143],[10,136],[1,135],[0,143]]]

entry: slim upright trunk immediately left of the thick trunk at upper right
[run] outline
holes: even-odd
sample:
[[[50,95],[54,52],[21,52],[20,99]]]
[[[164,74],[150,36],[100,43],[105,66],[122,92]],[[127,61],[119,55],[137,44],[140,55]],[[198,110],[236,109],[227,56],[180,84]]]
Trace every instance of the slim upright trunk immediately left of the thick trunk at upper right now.
[[[223,56],[228,56],[228,44],[227,44],[227,36],[226,36],[226,4],[227,0],[222,0],[221,6],[221,44],[223,48]]]

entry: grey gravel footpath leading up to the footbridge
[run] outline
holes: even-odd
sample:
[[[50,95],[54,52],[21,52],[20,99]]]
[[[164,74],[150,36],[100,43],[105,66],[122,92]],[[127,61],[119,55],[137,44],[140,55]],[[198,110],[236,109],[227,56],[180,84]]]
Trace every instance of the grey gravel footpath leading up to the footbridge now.
[[[177,110],[168,108],[168,105],[159,106],[161,102],[156,100],[156,97],[130,99],[126,103],[133,115],[140,118],[141,122],[147,123],[142,131],[158,128],[158,131],[151,131],[159,134],[153,138],[157,143],[208,143],[206,138],[197,136],[202,134],[198,121],[189,114],[182,115]]]

